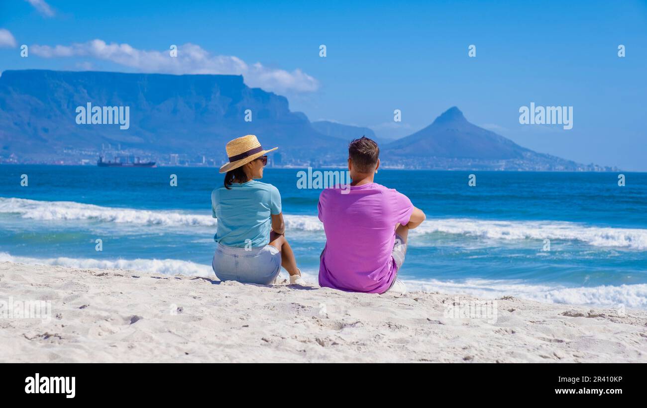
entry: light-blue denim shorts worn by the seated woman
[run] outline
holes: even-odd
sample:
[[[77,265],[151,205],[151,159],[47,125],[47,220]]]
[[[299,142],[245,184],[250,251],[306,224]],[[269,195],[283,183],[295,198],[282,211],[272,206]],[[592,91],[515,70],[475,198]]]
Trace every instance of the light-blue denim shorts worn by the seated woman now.
[[[281,270],[281,252],[271,245],[246,249],[218,244],[212,267],[221,281],[269,285]]]

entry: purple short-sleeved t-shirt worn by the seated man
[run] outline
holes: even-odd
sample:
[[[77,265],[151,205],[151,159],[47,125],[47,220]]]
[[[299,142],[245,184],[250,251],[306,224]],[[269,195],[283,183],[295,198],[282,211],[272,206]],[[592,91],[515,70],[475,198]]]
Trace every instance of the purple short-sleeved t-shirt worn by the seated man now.
[[[413,204],[402,193],[377,183],[324,189],[319,219],[326,244],[319,285],[348,292],[382,293],[397,274],[391,252],[395,225],[406,224]]]

